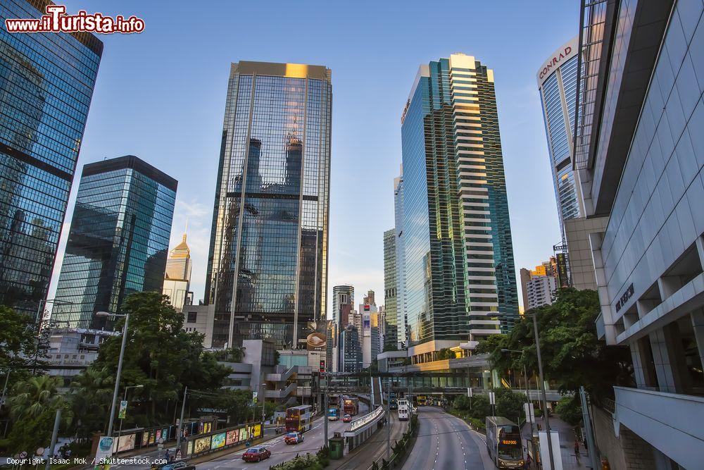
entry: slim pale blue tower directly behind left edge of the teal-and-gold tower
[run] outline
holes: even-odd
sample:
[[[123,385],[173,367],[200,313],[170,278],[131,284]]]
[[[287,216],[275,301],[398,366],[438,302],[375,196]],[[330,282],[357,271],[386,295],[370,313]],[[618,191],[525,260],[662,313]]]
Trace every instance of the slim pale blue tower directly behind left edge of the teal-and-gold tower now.
[[[403,236],[403,164],[394,178],[394,231],[396,232],[396,319],[398,346],[408,347],[408,316],[406,315],[406,252]]]

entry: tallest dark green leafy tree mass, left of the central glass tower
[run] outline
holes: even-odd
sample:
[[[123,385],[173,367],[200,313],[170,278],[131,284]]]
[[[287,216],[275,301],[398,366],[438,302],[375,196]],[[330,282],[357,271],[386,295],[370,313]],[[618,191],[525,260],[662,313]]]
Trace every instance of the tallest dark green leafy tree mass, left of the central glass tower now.
[[[183,315],[175,311],[168,297],[158,292],[135,292],[125,299],[121,311],[130,314],[130,328],[120,388],[143,386],[125,425],[170,422],[184,386],[189,392],[220,390],[230,369],[218,364],[214,354],[203,351],[203,335],[182,329]],[[122,330],[123,324],[120,319],[115,330]],[[89,369],[115,376],[121,342],[121,335],[108,338]],[[194,411],[198,407],[197,400],[187,403]]]

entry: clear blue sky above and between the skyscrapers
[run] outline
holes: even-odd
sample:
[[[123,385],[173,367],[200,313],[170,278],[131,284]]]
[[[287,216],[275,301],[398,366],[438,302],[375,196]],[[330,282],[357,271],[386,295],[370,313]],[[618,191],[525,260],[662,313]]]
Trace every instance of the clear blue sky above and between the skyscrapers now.
[[[56,1],[56,0],[55,0]],[[61,3],[61,2],[57,2]],[[68,0],[68,11],[143,18],[105,43],[50,296],[84,163],[134,154],[179,181],[172,247],[188,218],[191,287],[203,298],[230,63],[332,69],[329,279],[384,292],[401,111],[417,68],[455,52],[494,69],[517,270],[560,241],[536,71],[577,35],[579,1]],[[520,298],[520,287],[519,287]]]

